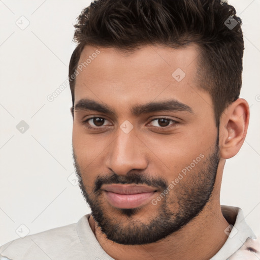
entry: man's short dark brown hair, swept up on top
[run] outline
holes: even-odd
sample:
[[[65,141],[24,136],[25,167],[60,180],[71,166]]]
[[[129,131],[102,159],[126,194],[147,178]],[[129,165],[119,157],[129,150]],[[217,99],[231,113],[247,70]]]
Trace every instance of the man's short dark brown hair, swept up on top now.
[[[233,23],[233,28],[228,26]],[[234,26],[235,24],[235,26]],[[181,48],[200,46],[200,87],[213,101],[215,120],[239,98],[244,51],[241,19],[221,0],[96,0],[82,10],[75,24],[74,50],[69,66],[74,106],[80,54],[86,45],[131,52],[147,44]]]

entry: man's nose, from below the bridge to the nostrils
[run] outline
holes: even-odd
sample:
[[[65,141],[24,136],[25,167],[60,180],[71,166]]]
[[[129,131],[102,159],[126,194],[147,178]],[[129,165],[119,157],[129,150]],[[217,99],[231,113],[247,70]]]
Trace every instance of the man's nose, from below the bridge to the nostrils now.
[[[128,134],[118,129],[117,138],[108,147],[105,166],[117,175],[147,168],[145,145],[136,136],[134,129]]]

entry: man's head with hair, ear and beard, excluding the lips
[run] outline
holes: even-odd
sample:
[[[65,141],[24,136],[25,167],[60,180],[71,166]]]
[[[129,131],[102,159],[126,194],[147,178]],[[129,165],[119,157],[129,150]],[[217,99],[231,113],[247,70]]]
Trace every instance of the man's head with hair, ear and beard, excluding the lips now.
[[[156,242],[219,203],[224,160],[243,144],[241,20],[221,1],[107,0],[75,27],[69,79],[82,193],[108,239]],[[104,189],[116,183],[154,190],[149,203],[120,208]]]

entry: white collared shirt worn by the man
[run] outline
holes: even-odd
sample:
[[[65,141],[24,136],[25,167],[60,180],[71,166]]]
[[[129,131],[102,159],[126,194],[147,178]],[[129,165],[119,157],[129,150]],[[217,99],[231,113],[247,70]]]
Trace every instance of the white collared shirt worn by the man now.
[[[242,210],[221,206],[221,211],[229,223],[235,224],[226,230],[229,238],[210,260],[260,259],[260,243],[246,224]],[[0,260],[114,260],[96,240],[89,216],[83,216],[78,223],[10,241],[0,247]]]

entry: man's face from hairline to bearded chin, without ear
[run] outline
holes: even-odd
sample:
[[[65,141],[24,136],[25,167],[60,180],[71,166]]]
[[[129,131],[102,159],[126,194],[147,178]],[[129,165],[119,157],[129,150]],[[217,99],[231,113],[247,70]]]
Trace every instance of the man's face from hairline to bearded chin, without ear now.
[[[81,54],[75,169],[94,220],[116,243],[163,239],[212,196],[218,129],[211,97],[199,88],[198,55],[196,45],[131,54],[86,46]]]

